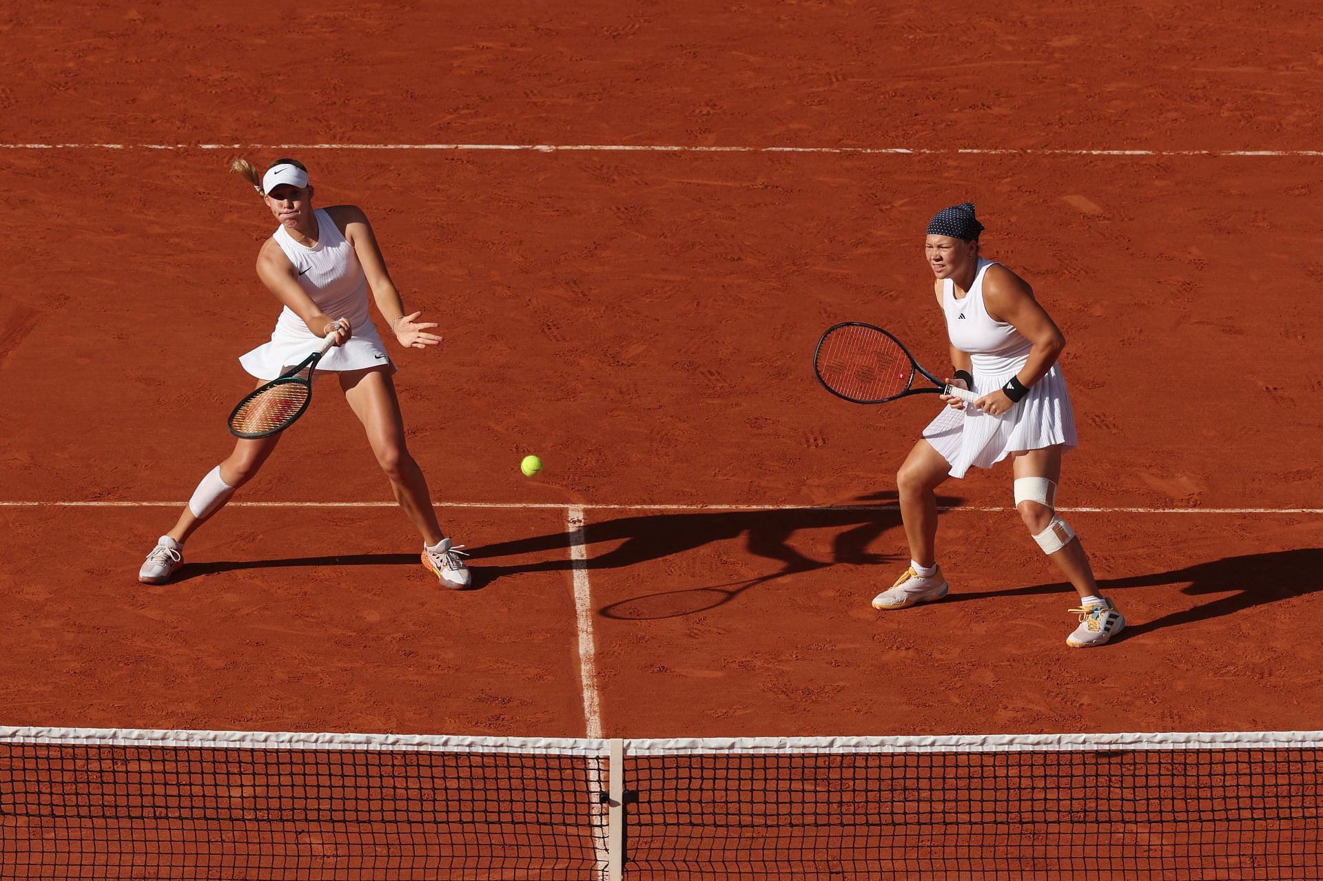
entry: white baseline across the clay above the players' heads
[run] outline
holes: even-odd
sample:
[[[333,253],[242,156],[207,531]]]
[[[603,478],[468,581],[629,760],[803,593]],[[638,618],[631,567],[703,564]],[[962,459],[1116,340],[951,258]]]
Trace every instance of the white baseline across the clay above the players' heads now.
[[[644,153],[856,153],[900,156],[1323,156],[1323,149],[1058,149],[1050,147],[704,147],[699,144],[0,144],[0,149],[442,149]]]

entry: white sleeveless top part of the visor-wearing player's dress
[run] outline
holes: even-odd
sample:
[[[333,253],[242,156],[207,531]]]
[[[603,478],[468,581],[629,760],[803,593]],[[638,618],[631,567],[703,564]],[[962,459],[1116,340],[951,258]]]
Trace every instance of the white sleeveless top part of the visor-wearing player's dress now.
[[[271,238],[294,263],[299,287],[323,312],[332,319],[349,319],[351,327],[364,327],[368,323],[368,276],[359,255],[324,209],[318,208],[314,216],[318,218],[315,246],[299,245],[283,226],[278,226]],[[280,311],[275,327],[277,332],[288,331],[300,337],[308,335],[303,319],[288,306]]]

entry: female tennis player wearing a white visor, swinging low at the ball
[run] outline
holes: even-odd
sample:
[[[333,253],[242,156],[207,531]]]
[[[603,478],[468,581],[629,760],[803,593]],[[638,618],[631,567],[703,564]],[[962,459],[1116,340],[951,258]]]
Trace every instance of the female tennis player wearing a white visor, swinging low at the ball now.
[[[429,332],[437,324],[419,321],[421,312],[405,314],[372,225],[360,208],[312,206],[314,188],[302,163],[279,159],[261,179],[246,160],[235,160],[233,168],[253,184],[279,224],[262,245],[257,274],[284,307],[270,341],[241,356],[239,364],[261,386],[333,337],[332,348],[316,362],[318,372],[337,376],[396,500],[422,536],[423,566],[447,587],[468,587],[471,577],[459,550],[463,545],[451,544],[442,533],[427,482],[405,444],[393,380],[396,365],[368,314],[368,294],[405,348],[438,345],[442,337]],[[175,526],[157,540],[138,573],[139,581],[163,585],[171,579],[183,564],[187,538],[253,479],[279,439],[280,433],[235,441],[229,458],[202,478]]]

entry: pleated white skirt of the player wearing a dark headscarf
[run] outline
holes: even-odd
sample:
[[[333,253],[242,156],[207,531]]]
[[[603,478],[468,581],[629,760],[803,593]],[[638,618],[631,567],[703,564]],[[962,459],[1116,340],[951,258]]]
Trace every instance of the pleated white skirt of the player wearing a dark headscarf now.
[[[974,377],[974,390],[988,394],[1000,389],[1019,373]],[[1066,380],[1057,365],[1033,384],[1019,403],[1002,415],[988,415],[972,405],[963,410],[942,407],[937,418],[923,429],[923,439],[951,463],[951,476],[963,478],[971,467],[991,468],[1012,452],[1064,446],[1080,446],[1074,427],[1074,411]]]

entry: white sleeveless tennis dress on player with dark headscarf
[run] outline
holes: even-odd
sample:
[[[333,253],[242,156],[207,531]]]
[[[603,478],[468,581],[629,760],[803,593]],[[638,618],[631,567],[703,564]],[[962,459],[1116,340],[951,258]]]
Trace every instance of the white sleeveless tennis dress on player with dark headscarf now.
[[[974,390],[988,394],[1017,374],[1029,358],[1032,344],[1005,321],[995,321],[983,306],[983,278],[992,261],[979,258],[974,284],[955,299],[955,282],[942,284],[942,311],[951,345],[970,353]],[[1002,415],[988,415],[967,405],[963,410],[942,407],[923,429],[923,439],[951,463],[951,476],[963,478],[971,466],[991,468],[1011,452],[1080,444],[1065,377],[1053,364],[1019,403]]]

